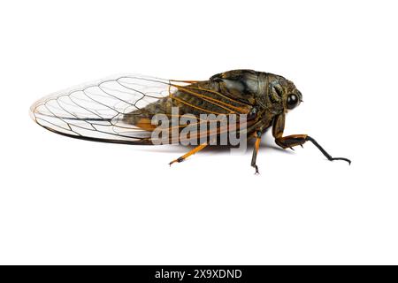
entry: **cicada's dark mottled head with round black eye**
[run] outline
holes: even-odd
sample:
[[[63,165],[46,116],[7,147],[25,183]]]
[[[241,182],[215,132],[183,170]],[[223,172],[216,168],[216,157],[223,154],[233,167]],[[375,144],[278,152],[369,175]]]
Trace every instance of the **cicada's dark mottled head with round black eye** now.
[[[267,79],[267,93],[272,104],[279,104],[287,112],[302,103],[302,93],[295,88],[292,81],[273,73],[267,73]]]

